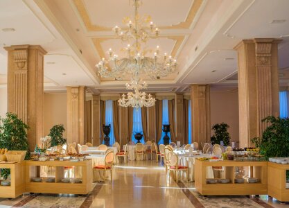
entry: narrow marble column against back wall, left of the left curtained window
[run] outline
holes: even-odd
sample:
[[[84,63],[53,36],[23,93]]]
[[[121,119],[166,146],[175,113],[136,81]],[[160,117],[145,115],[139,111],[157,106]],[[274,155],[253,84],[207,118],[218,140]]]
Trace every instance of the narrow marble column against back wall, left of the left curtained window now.
[[[100,95],[92,95],[92,143],[100,145]]]

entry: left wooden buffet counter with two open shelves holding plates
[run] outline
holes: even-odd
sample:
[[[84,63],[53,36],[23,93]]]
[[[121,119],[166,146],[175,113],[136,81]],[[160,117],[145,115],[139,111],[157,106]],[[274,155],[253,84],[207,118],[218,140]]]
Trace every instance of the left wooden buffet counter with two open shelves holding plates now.
[[[55,182],[33,182],[33,177],[40,177],[40,166],[55,167]],[[64,166],[80,168],[82,175],[81,183],[64,183]],[[80,162],[70,161],[26,161],[26,192],[32,193],[71,193],[71,194],[87,194],[93,188],[93,177],[91,170],[91,159]]]

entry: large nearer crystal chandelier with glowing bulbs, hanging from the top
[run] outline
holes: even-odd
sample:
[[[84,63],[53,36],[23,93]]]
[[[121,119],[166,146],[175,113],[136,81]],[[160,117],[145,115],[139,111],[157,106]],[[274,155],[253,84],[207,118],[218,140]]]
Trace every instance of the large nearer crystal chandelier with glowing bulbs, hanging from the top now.
[[[103,58],[96,64],[98,74],[103,78],[115,78],[119,80],[124,76],[137,76],[139,73],[144,73],[152,79],[167,76],[169,73],[175,71],[177,61],[171,55],[164,53],[160,54],[159,46],[155,50],[145,49],[148,38],[159,37],[159,29],[151,21],[150,16],[140,16],[138,8],[141,5],[141,0],[134,0],[134,17],[125,17],[123,22],[128,26],[123,31],[119,26],[115,26],[112,30],[123,42],[127,42],[125,47],[127,52],[126,58],[119,59],[109,49],[108,61]],[[153,53],[152,53],[153,52]],[[152,55],[148,55],[152,53]],[[110,63],[110,67],[107,64]]]

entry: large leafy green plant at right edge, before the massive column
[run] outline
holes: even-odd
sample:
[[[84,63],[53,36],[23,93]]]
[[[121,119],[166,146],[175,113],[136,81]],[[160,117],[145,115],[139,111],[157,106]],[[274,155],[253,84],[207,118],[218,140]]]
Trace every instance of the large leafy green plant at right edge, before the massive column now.
[[[252,143],[259,148],[261,155],[269,157],[289,157],[289,118],[268,116],[262,122],[270,123],[264,130],[261,138],[251,139]],[[289,180],[289,171],[286,172]]]

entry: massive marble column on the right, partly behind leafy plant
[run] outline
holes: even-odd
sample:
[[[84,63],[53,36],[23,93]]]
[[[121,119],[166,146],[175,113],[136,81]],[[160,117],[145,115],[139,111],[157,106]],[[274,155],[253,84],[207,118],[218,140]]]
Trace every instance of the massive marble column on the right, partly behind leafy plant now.
[[[279,116],[278,43],[272,38],[243,40],[238,51],[240,147],[261,137],[267,116]]]

